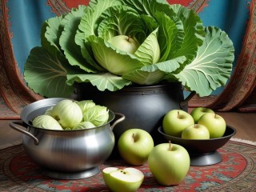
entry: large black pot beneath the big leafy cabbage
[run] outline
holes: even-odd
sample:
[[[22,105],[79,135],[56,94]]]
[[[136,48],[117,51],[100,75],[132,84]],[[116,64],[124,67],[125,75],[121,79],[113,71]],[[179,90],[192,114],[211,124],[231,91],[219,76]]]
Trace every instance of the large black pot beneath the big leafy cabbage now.
[[[140,128],[149,132],[157,142],[158,127],[169,111],[181,109],[187,111],[187,102],[194,92],[184,100],[181,83],[169,83],[158,86],[126,86],[117,91],[100,91],[89,83],[79,83],[78,100],[91,99],[95,103],[107,106],[110,110],[126,116],[123,122],[113,130],[118,141],[127,129]]]

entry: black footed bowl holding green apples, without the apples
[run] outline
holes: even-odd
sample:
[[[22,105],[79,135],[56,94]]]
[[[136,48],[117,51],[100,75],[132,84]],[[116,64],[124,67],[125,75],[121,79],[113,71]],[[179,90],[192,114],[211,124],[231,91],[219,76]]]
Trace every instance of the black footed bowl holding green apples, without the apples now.
[[[158,128],[158,132],[167,141],[183,146],[189,152],[191,166],[208,166],[222,161],[217,150],[224,146],[236,134],[237,130],[231,126],[226,126],[225,134],[221,138],[210,139],[177,138],[165,134],[162,127]]]

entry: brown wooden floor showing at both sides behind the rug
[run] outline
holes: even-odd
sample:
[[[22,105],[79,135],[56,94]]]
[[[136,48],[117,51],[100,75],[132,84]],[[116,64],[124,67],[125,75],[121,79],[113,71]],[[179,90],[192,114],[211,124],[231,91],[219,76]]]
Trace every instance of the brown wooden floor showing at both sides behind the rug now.
[[[189,112],[191,109],[189,110]],[[256,113],[218,112],[226,124],[237,129],[234,138],[256,142]],[[9,126],[10,120],[0,120],[0,146],[10,146],[22,141],[22,134]]]

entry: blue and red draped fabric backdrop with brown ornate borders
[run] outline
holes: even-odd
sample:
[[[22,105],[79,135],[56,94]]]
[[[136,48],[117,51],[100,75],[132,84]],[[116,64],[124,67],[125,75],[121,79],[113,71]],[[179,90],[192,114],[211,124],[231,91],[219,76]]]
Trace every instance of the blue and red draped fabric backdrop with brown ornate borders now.
[[[42,22],[89,0],[0,0],[0,119],[19,118],[23,106],[42,97],[26,86],[23,69],[34,46],[40,46]],[[230,81],[189,106],[214,110],[256,111],[256,0],[169,0],[195,10],[204,26],[218,26],[234,42]]]

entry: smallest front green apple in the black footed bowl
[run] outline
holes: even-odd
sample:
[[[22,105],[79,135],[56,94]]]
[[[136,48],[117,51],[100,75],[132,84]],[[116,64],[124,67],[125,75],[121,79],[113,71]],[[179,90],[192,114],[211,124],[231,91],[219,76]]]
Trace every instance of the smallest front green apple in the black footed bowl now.
[[[209,139],[210,133],[206,126],[194,124],[182,131],[182,138],[188,139]]]

